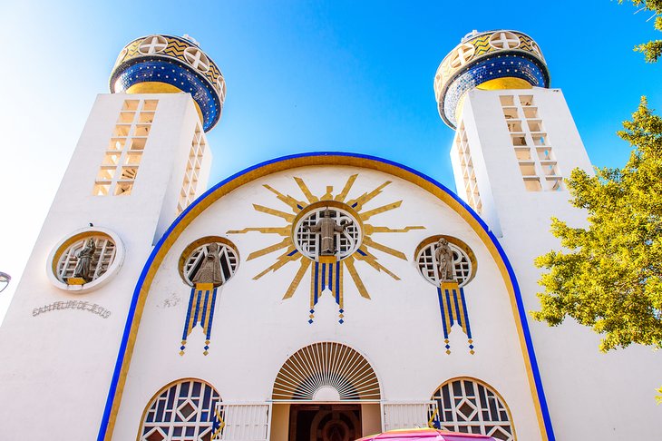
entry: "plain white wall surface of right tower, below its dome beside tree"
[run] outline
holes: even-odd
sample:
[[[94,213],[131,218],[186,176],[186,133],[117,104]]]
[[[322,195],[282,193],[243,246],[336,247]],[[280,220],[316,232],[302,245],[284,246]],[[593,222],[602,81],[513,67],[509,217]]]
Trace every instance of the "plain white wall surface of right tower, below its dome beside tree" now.
[[[463,121],[474,133],[472,150],[480,145],[501,223],[501,244],[517,273],[525,308],[537,310],[540,270],[533,260],[560,248],[549,232],[550,217],[583,226],[585,214],[570,206],[568,191],[525,190],[499,101],[499,95],[513,94],[534,95],[563,177],[576,167],[589,172],[592,167],[560,90],[468,94]],[[647,439],[662,433],[660,407],[653,398],[662,362],[652,350],[632,347],[600,354],[599,337],[572,319],[558,328],[532,320],[530,326],[557,439]]]

